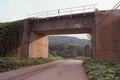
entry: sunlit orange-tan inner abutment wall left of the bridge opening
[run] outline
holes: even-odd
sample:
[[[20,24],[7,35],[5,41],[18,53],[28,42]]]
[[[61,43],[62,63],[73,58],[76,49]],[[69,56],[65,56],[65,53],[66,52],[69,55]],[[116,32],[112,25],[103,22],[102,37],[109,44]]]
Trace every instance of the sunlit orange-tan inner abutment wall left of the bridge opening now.
[[[38,33],[31,33],[29,43],[29,58],[48,57],[48,36]]]

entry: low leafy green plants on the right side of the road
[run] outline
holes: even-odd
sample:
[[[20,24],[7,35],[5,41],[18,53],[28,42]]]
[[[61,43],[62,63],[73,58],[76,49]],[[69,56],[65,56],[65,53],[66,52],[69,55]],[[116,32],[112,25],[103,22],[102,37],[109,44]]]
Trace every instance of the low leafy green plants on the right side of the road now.
[[[89,80],[120,80],[120,62],[80,57]]]

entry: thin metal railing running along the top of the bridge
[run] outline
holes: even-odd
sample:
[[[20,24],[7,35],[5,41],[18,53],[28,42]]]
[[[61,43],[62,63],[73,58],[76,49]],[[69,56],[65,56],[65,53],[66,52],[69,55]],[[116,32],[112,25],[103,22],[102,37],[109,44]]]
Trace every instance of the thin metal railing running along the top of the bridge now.
[[[40,12],[40,13],[32,13],[27,15],[29,18],[32,18],[32,17],[49,18],[49,17],[55,17],[55,16],[72,15],[77,13],[87,13],[87,12],[95,11],[95,6],[96,4],[91,4],[91,5],[78,6],[78,7],[72,7],[72,8],[51,10],[51,11]]]

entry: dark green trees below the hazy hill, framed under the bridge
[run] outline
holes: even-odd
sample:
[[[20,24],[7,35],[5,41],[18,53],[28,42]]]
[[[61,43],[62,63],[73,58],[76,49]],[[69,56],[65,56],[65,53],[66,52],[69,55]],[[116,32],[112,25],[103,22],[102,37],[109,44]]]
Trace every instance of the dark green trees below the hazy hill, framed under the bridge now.
[[[51,55],[58,55],[64,58],[66,57],[76,57],[76,56],[90,56],[90,47],[81,47],[78,45],[65,45],[62,43],[50,43],[49,53]]]

